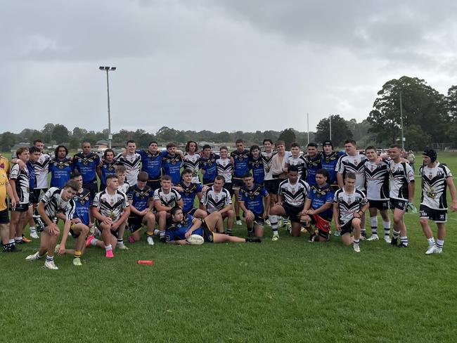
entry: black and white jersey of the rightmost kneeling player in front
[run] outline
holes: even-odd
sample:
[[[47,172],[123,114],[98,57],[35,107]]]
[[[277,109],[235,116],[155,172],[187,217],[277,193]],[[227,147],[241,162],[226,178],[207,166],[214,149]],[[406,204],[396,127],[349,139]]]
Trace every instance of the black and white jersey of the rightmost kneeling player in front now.
[[[359,212],[363,206],[368,203],[365,193],[357,188],[354,188],[353,193],[347,193],[345,188],[340,188],[335,192],[333,202],[338,205],[338,219],[340,219],[340,225],[352,221],[354,213]]]

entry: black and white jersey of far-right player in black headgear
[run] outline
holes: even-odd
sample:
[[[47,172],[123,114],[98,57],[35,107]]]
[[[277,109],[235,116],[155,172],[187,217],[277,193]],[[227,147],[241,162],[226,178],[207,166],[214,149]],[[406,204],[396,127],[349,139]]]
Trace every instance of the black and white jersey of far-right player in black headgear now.
[[[433,168],[420,167],[419,174],[422,178],[420,205],[425,205],[431,209],[447,209],[446,181],[452,177],[449,168],[437,162]]]

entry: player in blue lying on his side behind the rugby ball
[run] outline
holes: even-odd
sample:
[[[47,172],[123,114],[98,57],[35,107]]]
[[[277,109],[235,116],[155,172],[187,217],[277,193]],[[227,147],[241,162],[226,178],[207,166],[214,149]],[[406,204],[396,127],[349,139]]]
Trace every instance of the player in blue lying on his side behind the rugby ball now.
[[[167,228],[165,238],[167,243],[186,245],[187,238],[191,235],[200,235],[205,242],[260,242],[259,238],[240,238],[224,233],[216,233],[214,231],[224,232],[224,221],[219,212],[212,214],[200,220],[194,218],[190,214],[184,216],[181,207],[173,207],[170,211],[172,216],[171,225]]]

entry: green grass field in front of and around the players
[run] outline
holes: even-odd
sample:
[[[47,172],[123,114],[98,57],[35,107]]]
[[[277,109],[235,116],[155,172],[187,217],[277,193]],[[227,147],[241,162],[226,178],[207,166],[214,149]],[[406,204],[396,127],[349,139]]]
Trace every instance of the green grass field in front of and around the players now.
[[[440,157],[457,174],[457,157]],[[79,268],[57,257],[58,271],[24,260],[32,242],[0,255],[0,340],[455,342],[457,215],[449,215],[441,255],[425,256],[418,214],[406,214],[406,224],[406,250],[380,240],[361,242],[356,254],[340,238],[309,243],[283,230],[271,242],[266,228],[261,244],[143,240],[112,260],[91,247]]]

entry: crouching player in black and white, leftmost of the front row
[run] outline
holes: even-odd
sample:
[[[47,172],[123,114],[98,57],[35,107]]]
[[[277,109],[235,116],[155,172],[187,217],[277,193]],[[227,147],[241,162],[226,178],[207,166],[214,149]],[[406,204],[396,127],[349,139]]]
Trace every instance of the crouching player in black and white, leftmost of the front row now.
[[[35,227],[38,232],[41,232],[39,250],[25,257],[27,261],[41,259],[46,252],[44,268],[58,269],[56,264],[54,264],[54,250],[59,238],[60,229],[53,219],[56,216],[63,219],[63,231],[66,238],[70,231],[71,219],[73,218],[76,207],[72,198],[78,193],[78,190],[78,183],[70,180],[65,184],[63,189],[51,187],[44,193],[34,214]]]

